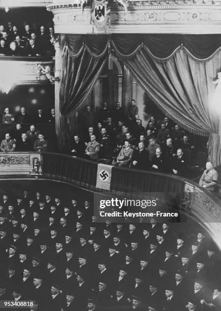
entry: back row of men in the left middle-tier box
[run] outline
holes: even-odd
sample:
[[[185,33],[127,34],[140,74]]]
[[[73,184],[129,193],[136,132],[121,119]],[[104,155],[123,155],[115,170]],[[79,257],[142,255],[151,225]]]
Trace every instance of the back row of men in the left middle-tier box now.
[[[36,123],[36,124],[55,124],[55,109],[52,108],[50,113],[47,114],[42,108],[38,108],[35,114],[29,114],[25,107],[21,107],[20,111],[16,112],[15,115],[10,112],[8,107],[5,108],[2,116],[2,122],[4,124],[12,123]]]

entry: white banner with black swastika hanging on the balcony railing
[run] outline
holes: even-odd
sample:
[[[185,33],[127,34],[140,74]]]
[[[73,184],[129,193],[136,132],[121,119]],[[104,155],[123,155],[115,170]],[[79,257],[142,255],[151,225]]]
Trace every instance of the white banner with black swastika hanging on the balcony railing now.
[[[112,177],[112,166],[107,164],[98,164],[96,188],[110,190],[110,180]]]

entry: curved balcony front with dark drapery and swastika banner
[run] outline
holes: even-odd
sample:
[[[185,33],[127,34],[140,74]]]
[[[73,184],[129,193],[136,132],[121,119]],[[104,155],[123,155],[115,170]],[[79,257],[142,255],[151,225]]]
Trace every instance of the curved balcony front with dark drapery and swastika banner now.
[[[34,168],[34,161],[39,163],[37,169]],[[124,195],[150,199],[153,193],[155,197],[163,193],[164,198],[172,195],[177,202],[177,211],[198,222],[221,250],[221,202],[192,180],[163,173],[112,167],[52,152],[1,152],[0,176],[1,179],[28,176],[62,181],[112,197]],[[183,200],[189,192],[191,202],[187,207],[183,205]]]

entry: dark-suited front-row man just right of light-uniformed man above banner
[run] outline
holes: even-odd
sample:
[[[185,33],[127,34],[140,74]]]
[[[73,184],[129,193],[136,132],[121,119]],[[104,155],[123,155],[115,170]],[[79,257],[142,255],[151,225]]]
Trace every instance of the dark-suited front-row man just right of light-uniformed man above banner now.
[[[150,167],[149,153],[144,149],[144,143],[138,143],[138,150],[134,150],[131,159],[132,168],[139,170],[147,170]]]

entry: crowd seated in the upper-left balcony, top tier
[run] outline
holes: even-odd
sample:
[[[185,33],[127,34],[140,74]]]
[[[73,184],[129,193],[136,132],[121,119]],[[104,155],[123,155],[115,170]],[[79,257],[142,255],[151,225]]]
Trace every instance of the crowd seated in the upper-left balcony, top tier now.
[[[54,54],[54,28],[25,23],[18,28],[11,21],[0,25],[0,56],[51,56]]]

